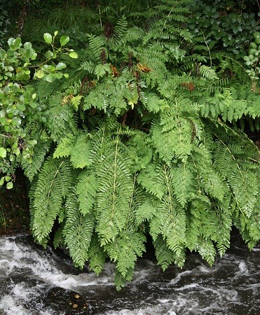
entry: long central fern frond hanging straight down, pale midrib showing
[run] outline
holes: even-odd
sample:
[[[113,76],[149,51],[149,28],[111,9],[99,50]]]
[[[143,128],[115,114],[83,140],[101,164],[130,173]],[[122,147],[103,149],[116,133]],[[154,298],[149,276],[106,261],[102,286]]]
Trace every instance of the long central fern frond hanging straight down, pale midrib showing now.
[[[123,229],[132,187],[131,160],[125,146],[116,137],[106,149],[96,172],[99,183],[96,230],[102,246],[114,240]]]

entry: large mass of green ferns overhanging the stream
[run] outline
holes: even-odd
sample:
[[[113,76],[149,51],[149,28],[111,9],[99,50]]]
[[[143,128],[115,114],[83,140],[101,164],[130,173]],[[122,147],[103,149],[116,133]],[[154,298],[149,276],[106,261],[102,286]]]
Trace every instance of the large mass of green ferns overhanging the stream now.
[[[15,114],[26,130],[15,139],[34,139],[29,156],[15,160],[31,182],[34,238],[46,246],[55,227],[55,246],[97,274],[109,258],[118,288],[132,279],[147,235],[163,269],[182,267],[187,248],[212,265],[233,225],[249,248],[260,239],[259,151],[245,133],[259,130],[257,25],[250,46],[241,39],[239,52],[232,42],[227,53],[221,36],[213,43],[215,29],[189,25],[192,1],[152,4],[102,7],[104,15],[83,7],[93,27],[69,30],[78,58],[68,50],[48,68],[54,73],[37,70],[29,85],[37,110]],[[45,57],[56,58],[53,37],[44,39]],[[68,75],[55,74],[66,64]],[[19,104],[15,97],[3,99]]]

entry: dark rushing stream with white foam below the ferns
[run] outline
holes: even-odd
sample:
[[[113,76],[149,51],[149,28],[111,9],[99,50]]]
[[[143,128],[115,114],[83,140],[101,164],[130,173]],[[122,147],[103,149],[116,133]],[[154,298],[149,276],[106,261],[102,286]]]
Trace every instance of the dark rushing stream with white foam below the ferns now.
[[[80,273],[29,236],[1,237],[0,314],[259,315],[259,267],[260,246],[249,252],[236,235],[213,267],[193,253],[184,269],[166,272],[139,260],[134,280],[117,292],[112,264],[100,276]]]

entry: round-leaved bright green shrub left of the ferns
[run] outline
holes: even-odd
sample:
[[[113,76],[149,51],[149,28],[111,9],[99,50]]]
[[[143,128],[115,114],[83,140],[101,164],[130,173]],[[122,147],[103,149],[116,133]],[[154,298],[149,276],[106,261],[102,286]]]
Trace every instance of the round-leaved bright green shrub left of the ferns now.
[[[57,34],[57,31],[54,36],[44,34],[51,50],[46,52],[46,59],[40,63],[36,62],[37,54],[32,44],[27,42],[22,45],[20,38],[9,38],[8,49],[0,49],[0,186],[6,182],[8,189],[13,187],[15,168],[22,160],[32,158],[37,143],[32,128],[34,117],[41,112],[41,104],[32,80],[52,83],[63,76],[66,78],[67,73],[62,73],[66,64],[55,64],[55,59],[59,54],[77,57],[74,50],[63,48],[69,41],[68,36],[62,36],[60,48],[55,48]]]

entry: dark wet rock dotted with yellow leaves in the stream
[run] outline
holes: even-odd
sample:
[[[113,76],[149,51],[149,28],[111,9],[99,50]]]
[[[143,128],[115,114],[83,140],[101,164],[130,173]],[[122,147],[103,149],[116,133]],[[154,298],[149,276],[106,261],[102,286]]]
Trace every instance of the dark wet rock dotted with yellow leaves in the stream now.
[[[52,288],[43,298],[47,307],[50,307],[56,314],[64,315],[88,315],[90,306],[80,294],[65,290],[64,288]]]

